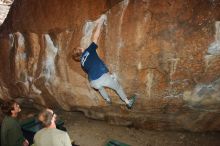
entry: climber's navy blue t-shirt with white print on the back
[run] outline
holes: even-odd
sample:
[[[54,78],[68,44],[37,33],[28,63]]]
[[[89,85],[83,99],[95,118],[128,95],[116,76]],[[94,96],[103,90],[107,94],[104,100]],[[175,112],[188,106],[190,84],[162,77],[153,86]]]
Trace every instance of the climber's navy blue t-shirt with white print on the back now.
[[[88,74],[90,81],[96,80],[103,74],[109,72],[104,62],[99,58],[96,49],[98,46],[92,42],[82,53],[80,62],[82,69]]]

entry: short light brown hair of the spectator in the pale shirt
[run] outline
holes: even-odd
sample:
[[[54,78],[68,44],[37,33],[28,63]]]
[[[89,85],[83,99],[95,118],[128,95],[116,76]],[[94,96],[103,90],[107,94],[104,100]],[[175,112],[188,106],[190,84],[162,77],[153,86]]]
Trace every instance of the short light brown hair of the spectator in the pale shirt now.
[[[54,113],[49,111],[48,109],[44,109],[40,112],[39,116],[42,116],[43,119],[41,119],[41,122],[45,127],[48,127],[51,125],[51,120],[54,116]]]

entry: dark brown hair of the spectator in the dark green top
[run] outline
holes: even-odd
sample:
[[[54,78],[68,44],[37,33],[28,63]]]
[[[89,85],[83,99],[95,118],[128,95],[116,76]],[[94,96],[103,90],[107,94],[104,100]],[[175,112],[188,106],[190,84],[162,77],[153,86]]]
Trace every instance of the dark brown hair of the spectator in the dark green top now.
[[[14,104],[17,103],[15,100],[7,100],[1,105],[1,110],[5,115],[11,116],[11,111],[14,110]]]

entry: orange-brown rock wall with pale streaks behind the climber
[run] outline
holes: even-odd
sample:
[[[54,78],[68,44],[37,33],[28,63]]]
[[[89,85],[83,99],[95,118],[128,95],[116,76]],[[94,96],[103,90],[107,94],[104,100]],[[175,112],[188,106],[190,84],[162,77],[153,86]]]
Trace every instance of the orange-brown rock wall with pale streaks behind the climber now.
[[[219,1],[15,0],[1,26],[0,97],[23,96],[113,124],[157,130],[220,130]],[[132,110],[105,104],[72,50],[88,46],[107,15],[98,52]]]

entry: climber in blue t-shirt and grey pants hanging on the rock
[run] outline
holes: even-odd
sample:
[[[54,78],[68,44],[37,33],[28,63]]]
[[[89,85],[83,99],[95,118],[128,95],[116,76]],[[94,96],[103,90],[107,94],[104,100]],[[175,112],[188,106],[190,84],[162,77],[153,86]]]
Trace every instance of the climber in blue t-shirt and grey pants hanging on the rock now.
[[[131,99],[128,100],[122,87],[120,86],[116,78],[109,73],[108,68],[99,58],[96,52],[96,49],[98,48],[97,42],[101,32],[101,28],[106,20],[107,16],[103,14],[95,22],[97,26],[95,33],[92,37],[93,42],[89,45],[87,49],[82,47],[74,48],[72,57],[75,61],[81,62],[82,69],[88,74],[90,85],[100,92],[107,103],[111,104],[111,99],[105,91],[105,87],[115,90],[120,96],[121,100],[126,103],[127,108],[130,109],[135,102],[136,96],[132,96]]]

